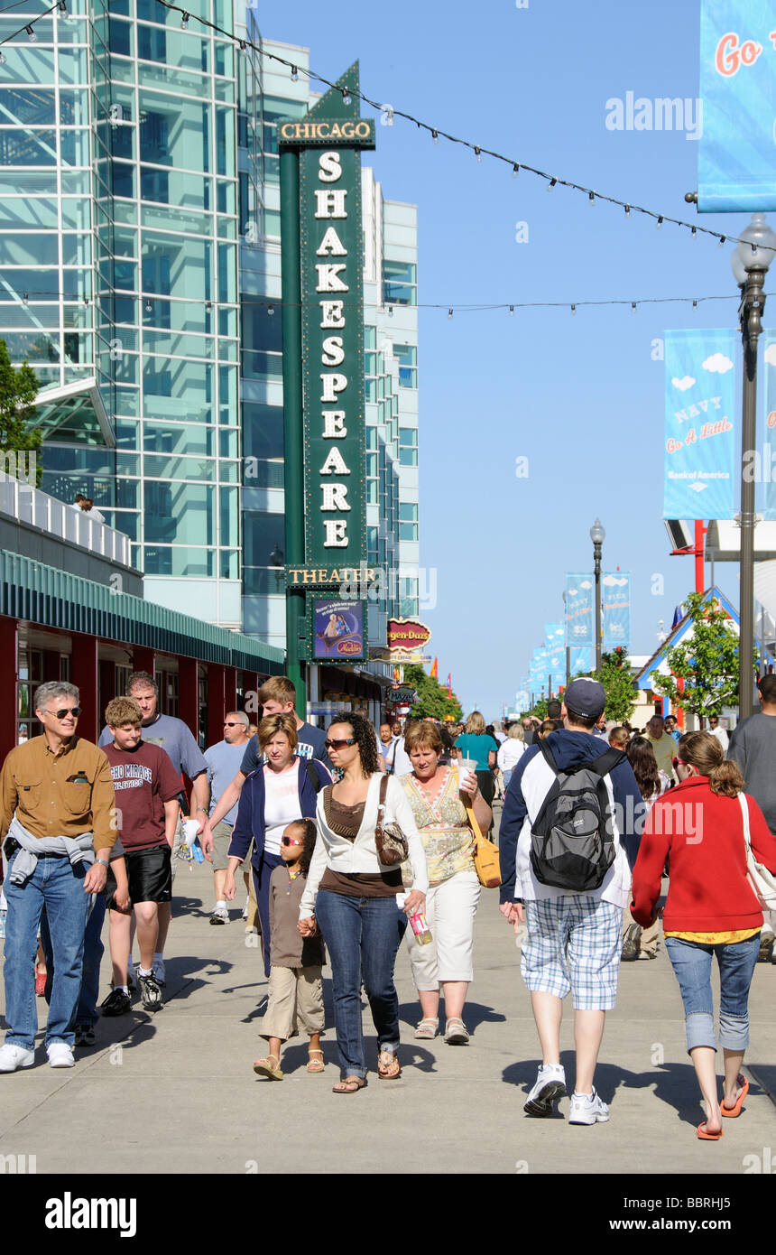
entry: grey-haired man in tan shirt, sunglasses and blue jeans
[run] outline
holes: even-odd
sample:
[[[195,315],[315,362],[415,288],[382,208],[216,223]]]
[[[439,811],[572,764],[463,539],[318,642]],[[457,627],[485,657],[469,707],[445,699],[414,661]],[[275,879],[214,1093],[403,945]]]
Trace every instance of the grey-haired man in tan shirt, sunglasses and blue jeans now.
[[[115,794],[105,754],[75,735],[78,689],[53,680],[34,697],[43,735],[11,749],[0,776],[0,841],[8,858],[5,1019],[0,1072],[35,1062],[34,955],[45,907],[56,955],[46,1024],[53,1068],[73,1067],[89,895],[105,887],[115,842]]]

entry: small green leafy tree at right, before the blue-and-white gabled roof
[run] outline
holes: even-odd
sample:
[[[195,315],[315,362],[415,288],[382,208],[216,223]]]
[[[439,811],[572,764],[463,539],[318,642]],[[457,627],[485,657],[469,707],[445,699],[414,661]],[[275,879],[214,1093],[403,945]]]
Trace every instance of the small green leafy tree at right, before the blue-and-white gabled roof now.
[[[707,719],[738,705],[738,635],[716,597],[691,592],[684,605],[692,631],[666,650],[672,674],[656,675],[652,685],[672,705]]]

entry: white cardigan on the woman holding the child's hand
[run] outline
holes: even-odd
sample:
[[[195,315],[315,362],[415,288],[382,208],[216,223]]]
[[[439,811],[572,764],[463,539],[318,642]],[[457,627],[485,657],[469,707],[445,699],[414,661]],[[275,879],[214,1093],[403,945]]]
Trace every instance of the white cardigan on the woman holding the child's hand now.
[[[307,885],[300,904],[300,919],[308,919],[315,914],[315,900],[318,892],[321,877],[327,867],[345,875],[352,872],[370,872],[377,875],[387,868],[377,858],[375,846],[375,825],[377,822],[377,804],[380,802],[381,772],[375,772],[370,781],[364,818],[361,827],[354,841],[347,837],[338,837],[326,823],[323,812],[323,791],[318,793],[316,807],[316,823],[318,837],[307,872]],[[412,889],[426,894],[429,890],[429,871],[426,867],[426,852],[424,850],[420,833],[412,816],[412,808],[407,801],[404,788],[394,776],[387,778],[387,791],[385,794],[385,823],[399,823],[407,838],[409,862],[412,867]]]

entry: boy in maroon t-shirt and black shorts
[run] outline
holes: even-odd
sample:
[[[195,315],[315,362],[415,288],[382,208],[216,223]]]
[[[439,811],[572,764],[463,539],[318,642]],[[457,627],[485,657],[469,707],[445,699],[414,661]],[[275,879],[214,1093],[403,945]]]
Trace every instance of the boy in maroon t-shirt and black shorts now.
[[[120,837],[127,861],[130,910],[127,915],[127,944],[129,948],[129,919],[134,907],[138,925],[140,965],[137,969],[143,1007],[157,1012],[162,1007],[162,990],[153,973],[153,956],[159,935],[159,902],[172,899],[172,846],[178,822],[178,794],[181,778],[159,747],[143,740],[142,713],[132,698],[114,698],[105,709],[105,723],[110,728],[113,744],[104,753],[110,763],[115,807],[120,814]],[[112,912],[124,914],[109,896]],[[113,919],[113,915],[112,915]],[[113,930],[112,930],[113,931]],[[114,989],[108,999],[117,1005],[104,1004],[104,1014],[120,1015],[129,1010],[125,1003],[118,1007]]]

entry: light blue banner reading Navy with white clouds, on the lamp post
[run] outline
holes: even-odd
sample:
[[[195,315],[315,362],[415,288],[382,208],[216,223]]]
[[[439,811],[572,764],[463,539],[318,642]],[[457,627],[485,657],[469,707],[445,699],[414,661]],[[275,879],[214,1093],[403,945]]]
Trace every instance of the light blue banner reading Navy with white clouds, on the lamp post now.
[[[732,518],[736,335],[666,331],[663,518]]]

